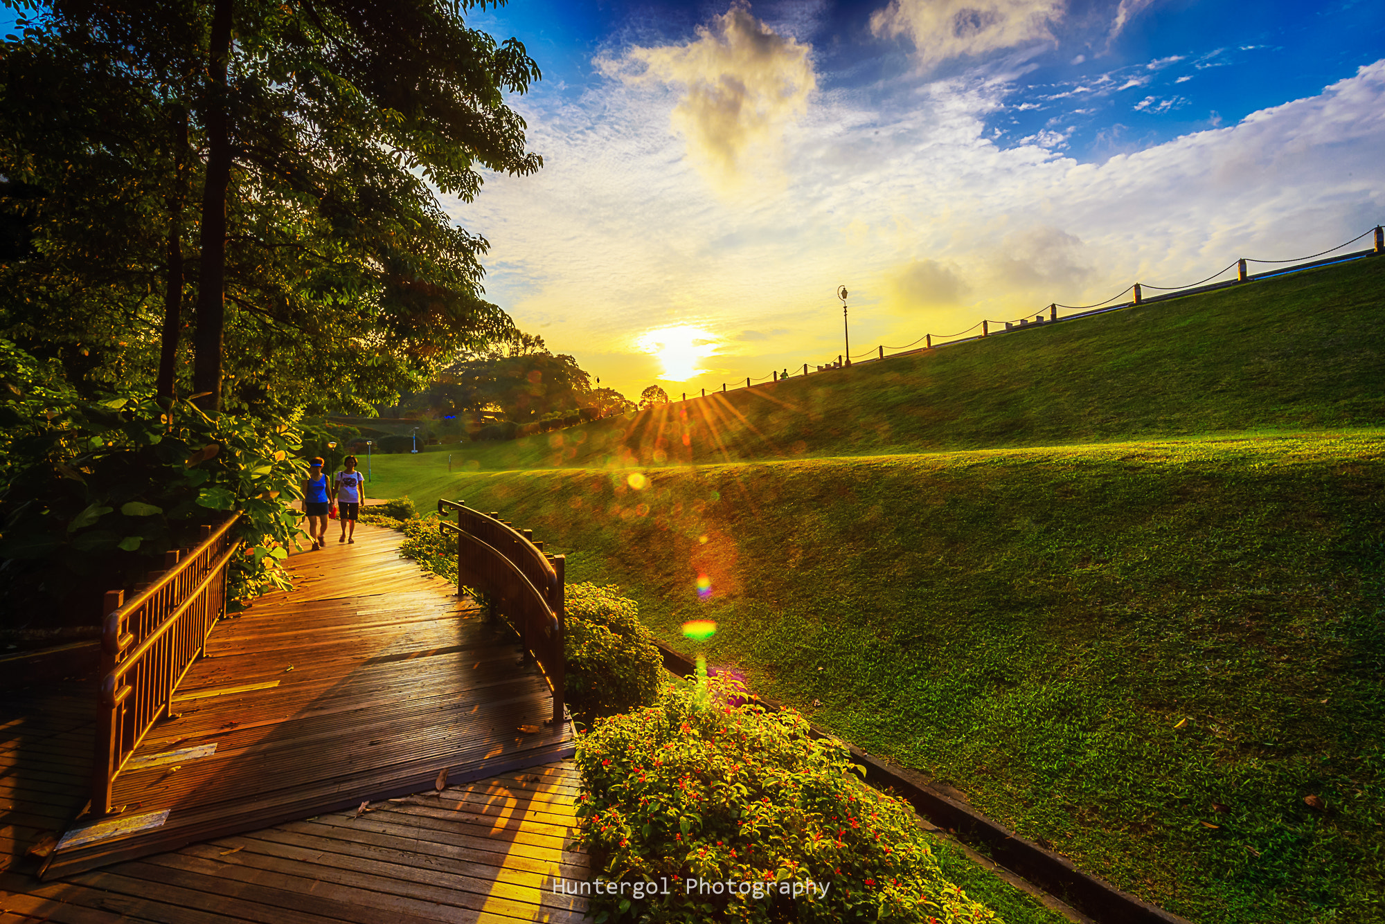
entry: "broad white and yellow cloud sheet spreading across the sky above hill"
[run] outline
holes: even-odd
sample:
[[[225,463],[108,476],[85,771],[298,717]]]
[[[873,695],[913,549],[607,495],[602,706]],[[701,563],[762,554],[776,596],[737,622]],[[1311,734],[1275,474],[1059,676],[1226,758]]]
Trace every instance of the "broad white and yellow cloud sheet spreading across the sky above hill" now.
[[[1385,61],[1104,163],[1064,156],[1062,131],[1000,147],[985,120],[1003,93],[965,79],[884,101],[821,93],[783,130],[783,184],[724,199],[668,131],[677,91],[540,91],[517,105],[544,169],[488,176],[453,213],[492,242],[493,300],[526,329],[553,324],[550,347],[636,394],[661,372],[634,342],[658,328],[719,339],[690,390],[835,357],[838,284],[852,290],[853,344],[902,344],[1134,281],[1190,282],[1238,256],[1313,253],[1385,214]],[[932,296],[902,314],[909,286]]]

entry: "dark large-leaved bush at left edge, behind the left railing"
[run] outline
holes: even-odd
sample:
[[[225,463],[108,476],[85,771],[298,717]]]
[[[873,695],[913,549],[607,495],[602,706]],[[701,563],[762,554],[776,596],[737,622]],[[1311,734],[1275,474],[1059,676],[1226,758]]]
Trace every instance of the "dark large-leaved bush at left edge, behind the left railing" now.
[[[4,346],[0,342],[0,346]],[[188,401],[80,400],[42,386],[32,357],[0,349],[0,599],[47,621],[94,621],[105,589],[162,570],[163,552],[197,545],[198,527],[244,513],[234,599],[287,586],[278,562],[302,535],[299,434]]]

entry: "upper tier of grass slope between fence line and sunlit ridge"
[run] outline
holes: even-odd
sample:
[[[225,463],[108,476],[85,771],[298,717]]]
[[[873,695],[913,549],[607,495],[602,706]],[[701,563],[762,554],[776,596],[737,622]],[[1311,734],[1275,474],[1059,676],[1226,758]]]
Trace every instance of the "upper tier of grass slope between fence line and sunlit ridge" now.
[[[1375,426],[1385,423],[1382,284],[1385,260],[1363,260],[634,419],[431,451],[494,470]]]

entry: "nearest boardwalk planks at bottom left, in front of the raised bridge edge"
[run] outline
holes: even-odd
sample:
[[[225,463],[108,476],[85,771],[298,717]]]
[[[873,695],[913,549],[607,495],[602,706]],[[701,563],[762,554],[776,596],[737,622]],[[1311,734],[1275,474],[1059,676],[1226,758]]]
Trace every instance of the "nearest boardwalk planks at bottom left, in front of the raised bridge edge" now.
[[[324,813],[39,883],[0,873],[0,924],[578,924],[568,762]]]

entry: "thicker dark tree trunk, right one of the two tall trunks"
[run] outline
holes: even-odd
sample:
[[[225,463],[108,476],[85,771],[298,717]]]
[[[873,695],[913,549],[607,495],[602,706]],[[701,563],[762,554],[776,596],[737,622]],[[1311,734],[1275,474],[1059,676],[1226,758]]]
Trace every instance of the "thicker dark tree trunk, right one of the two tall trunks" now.
[[[227,64],[231,57],[231,0],[212,8],[212,41],[208,53],[206,180],[202,185],[201,278],[197,288],[197,329],[193,333],[193,390],[202,393],[205,411],[222,408],[222,338],[226,329],[226,190],[231,183],[230,94]]]

